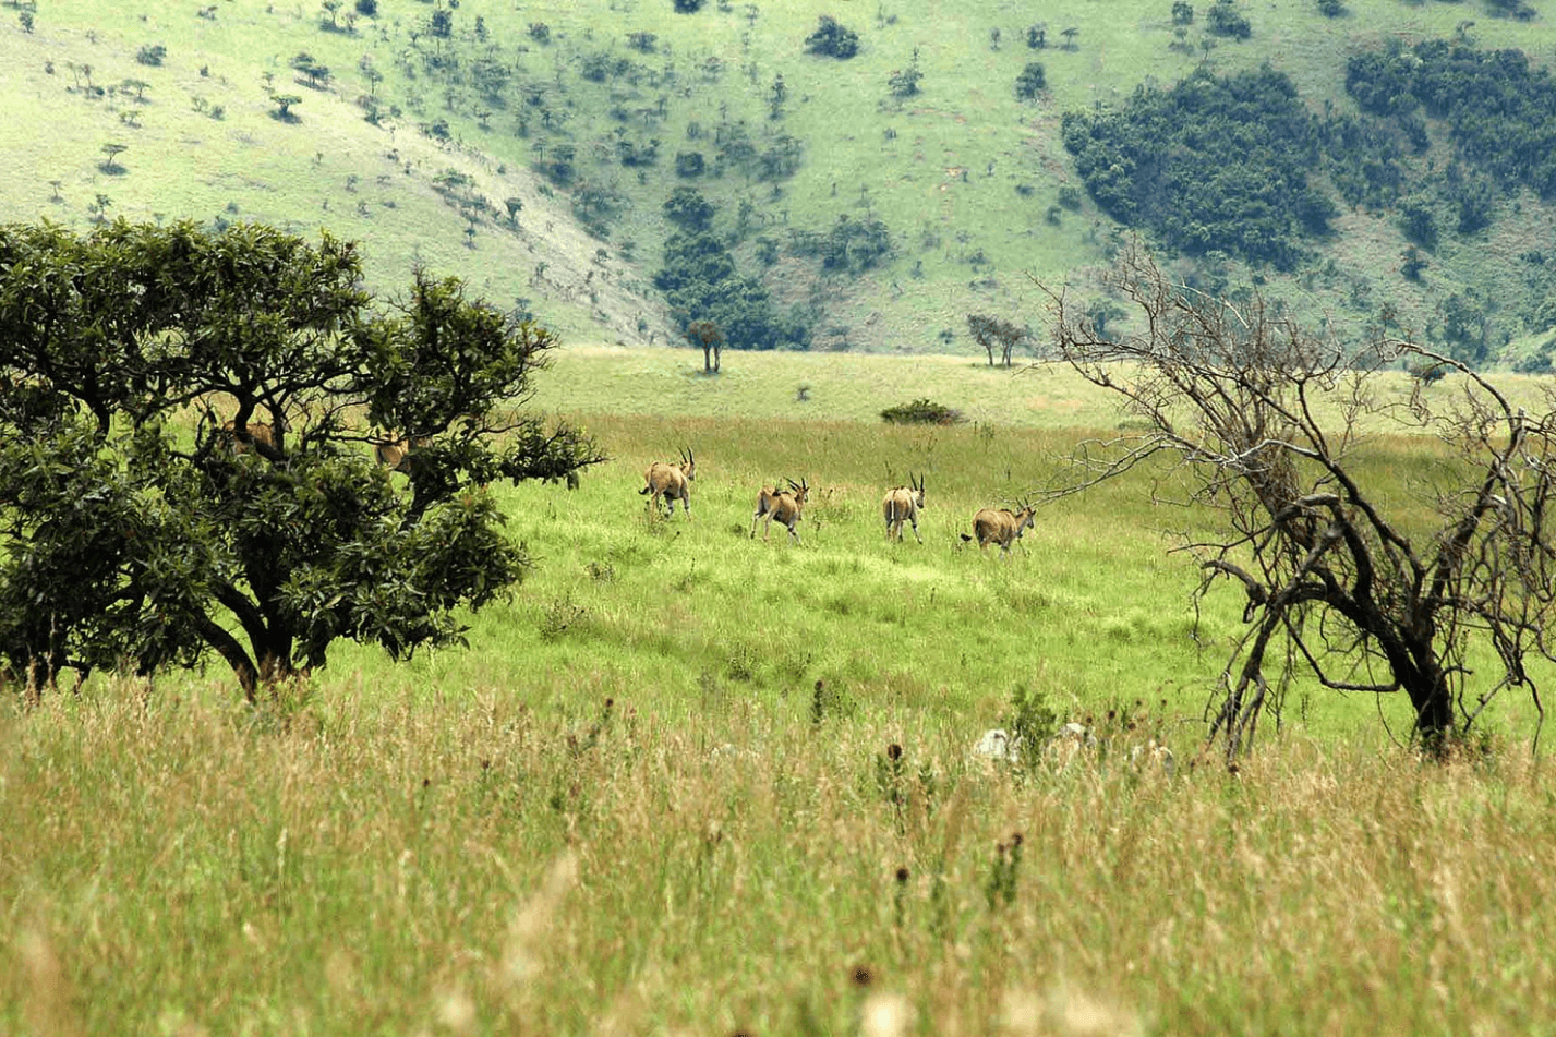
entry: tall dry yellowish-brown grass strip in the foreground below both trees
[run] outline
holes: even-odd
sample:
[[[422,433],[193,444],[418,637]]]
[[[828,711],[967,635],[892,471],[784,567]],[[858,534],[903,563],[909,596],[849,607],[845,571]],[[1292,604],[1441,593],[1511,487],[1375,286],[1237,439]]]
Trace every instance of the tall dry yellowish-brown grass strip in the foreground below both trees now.
[[[6,1032],[1536,1032],[1525,754],[968,758],[892,707],[0,718]],[[1123,735],[1133,738],[1134,735]],[[896,744],[901,752],[890,751]],[[893,758],[895,757],[895,758]]]

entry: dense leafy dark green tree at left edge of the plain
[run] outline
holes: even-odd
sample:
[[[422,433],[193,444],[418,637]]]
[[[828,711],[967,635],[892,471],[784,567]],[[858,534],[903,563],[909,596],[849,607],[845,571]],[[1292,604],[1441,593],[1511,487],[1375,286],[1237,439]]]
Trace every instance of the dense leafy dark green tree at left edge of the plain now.
[[[215,654],[252,699],[338,638],[459,643],[527,565],[485,486],[602,459],[515,410],[554,344],[425,272],[380,304],[328,235],[0,227],[6,676]],[[419,444],[408,476],[375,430]]]

